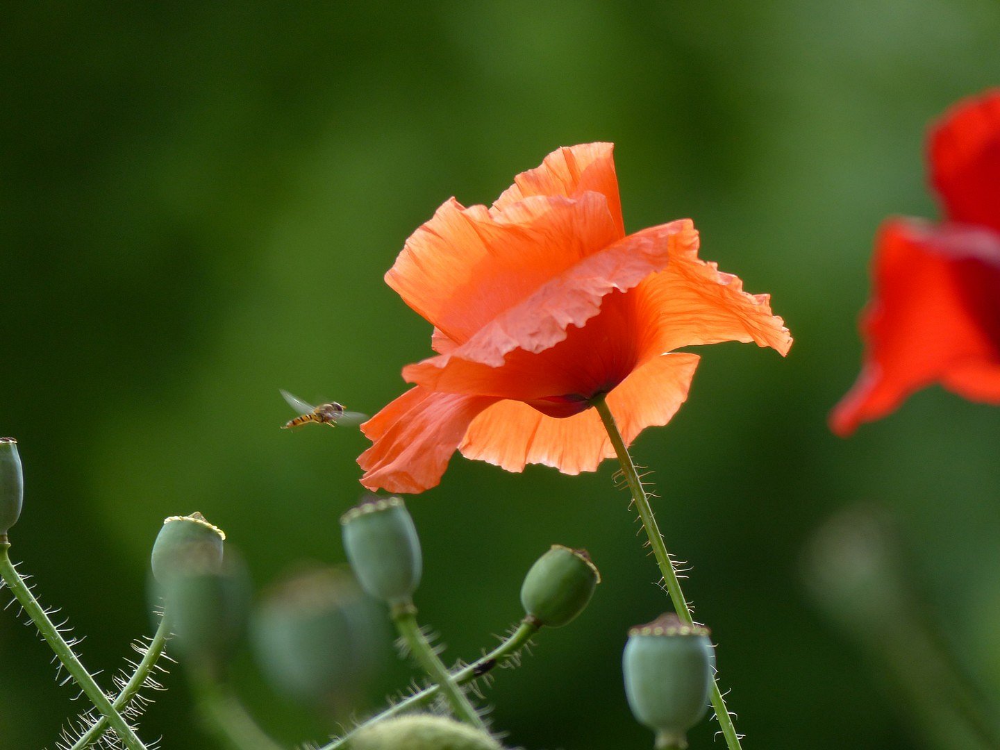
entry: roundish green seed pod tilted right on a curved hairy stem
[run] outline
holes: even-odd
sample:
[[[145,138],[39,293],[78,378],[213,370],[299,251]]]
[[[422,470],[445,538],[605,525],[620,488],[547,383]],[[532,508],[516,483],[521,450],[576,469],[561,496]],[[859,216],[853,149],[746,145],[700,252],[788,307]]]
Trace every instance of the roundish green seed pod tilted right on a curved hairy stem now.
[[[521,604],[539,625],[558,628],[583,612],[600,582],[586,550],[554,544],[524,577]]]

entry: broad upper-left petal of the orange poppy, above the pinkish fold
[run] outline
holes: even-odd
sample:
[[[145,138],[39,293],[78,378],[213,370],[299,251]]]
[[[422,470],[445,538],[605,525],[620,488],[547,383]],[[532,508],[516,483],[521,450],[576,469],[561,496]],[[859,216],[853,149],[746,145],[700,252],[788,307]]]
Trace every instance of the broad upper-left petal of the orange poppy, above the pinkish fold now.
[[[500,214],[451,199],[406,241],[385,280],[462,343],[619,237],[607,198],[596,192],[529,197]]]

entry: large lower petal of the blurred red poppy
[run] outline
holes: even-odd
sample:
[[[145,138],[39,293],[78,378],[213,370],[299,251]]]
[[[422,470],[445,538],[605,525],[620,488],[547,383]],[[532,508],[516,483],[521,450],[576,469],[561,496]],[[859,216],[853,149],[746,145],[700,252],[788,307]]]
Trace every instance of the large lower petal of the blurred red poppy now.
[[[1000,403],[1000,234],[892,219],[876,240],[865,364],[834,408],[847,436],[931,383]]]

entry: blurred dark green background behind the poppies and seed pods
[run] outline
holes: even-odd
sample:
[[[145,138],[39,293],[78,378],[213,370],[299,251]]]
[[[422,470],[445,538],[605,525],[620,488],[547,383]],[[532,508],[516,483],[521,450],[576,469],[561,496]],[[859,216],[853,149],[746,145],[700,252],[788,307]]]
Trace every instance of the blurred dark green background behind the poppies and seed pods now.
[[[927,123],[1000,83],[998,38],[987,0],[7,5],[0,433],[27,481],[13,557],[105,679],[148,632],[166,515],[223,526],[258,587],[302,558],[342,561],[367,441],[277,429],[278,388],[369,413],[395,397],[429,352],[428,324],[382,282],[409,233],[451,195],[488,203],[557,146],[610,140],[627,228],[694,218],[702,256],[771,293],[796,338],[785,360],[701,350],[690,401],[635,446],[746,747],[920,746],[878,660],[814,606],[801,557],[837,509],[888,508],[959,660],[1000,691],[1000,415],[934,388],[849,441],[825,424],[858,369],[872,235],[893,213],[937,215]],[[619,663],[626,629],[667,605],[612,469],[456,458],[409,502],[418,604],[454,658],[520,617],[550,543],[602,570],[588,611],[489,692],[512,745],[651,746]],[[3,614],[0,747],[53,747],[80,704]],[[180,672],[144,736],[213,747]],[[358,712],[410,674],[390,655]],[[245,655],[238,675],[287,744],[335,729]]]

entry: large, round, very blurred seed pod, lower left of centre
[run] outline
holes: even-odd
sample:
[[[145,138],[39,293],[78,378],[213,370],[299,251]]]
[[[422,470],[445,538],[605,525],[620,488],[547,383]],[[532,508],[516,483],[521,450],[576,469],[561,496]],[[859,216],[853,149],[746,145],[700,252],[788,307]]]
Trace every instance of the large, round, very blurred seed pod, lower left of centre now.
[[[319,705],[348,704],[379,661],[385,617],[346,570],[285,579],[254,613],[254,651],[282,692]]]

